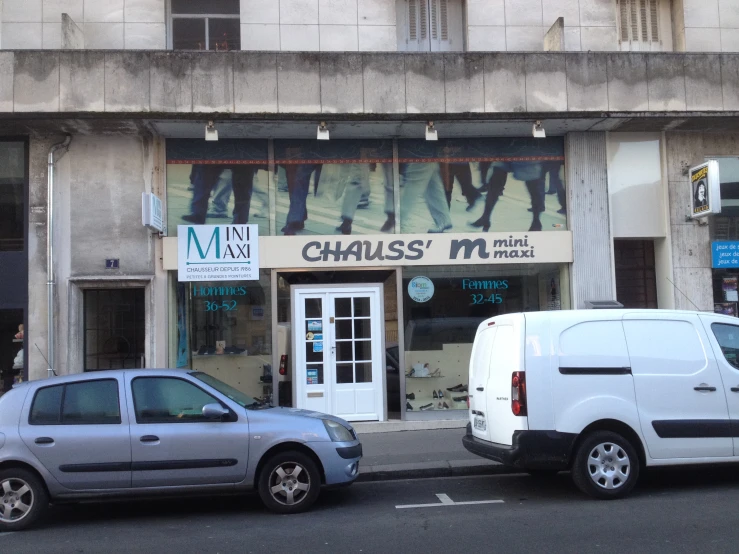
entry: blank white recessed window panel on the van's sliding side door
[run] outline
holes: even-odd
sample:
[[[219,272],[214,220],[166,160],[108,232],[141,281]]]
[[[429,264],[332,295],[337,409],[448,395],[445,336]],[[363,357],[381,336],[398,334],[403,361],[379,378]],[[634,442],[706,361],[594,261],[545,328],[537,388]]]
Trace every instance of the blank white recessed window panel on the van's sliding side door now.
[[[707,365],[703,343],[688,321],[624,320],[634,375],[692,375]]]

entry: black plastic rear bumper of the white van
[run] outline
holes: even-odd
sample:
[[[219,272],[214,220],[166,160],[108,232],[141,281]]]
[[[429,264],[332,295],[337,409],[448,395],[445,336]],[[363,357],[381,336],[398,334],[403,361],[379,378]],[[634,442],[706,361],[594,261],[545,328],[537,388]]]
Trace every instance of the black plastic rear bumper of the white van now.
[[[464,447],[478,456],[521,469],[567,469],[577,435],[559,431],[514,431],[512,444],[496,444],[467,434]]]

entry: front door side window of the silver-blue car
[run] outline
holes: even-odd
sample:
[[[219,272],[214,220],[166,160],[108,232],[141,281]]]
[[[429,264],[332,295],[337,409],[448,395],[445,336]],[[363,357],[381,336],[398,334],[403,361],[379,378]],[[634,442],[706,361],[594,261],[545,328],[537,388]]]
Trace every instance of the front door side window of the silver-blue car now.
[[[137,377],[131,383],[137,423],[213,421],[203,406],[220,402],[189,381],[176,377]]]

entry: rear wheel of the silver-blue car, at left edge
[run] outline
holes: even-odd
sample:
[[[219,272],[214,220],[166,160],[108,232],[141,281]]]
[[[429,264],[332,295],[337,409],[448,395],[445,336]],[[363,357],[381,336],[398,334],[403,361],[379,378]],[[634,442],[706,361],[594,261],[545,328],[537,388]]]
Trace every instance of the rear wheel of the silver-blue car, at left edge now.
[[[49,507],[41,480],[26,469],[0,471],[0,531],[20,531],[33,525]]]

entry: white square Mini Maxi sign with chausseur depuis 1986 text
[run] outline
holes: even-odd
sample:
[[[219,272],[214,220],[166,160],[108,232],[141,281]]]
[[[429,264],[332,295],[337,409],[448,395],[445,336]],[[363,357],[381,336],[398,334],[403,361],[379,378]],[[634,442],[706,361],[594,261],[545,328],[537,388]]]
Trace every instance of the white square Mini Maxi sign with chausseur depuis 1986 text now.
[[[258,225],[179,225],[179,281],[259,279]]]

